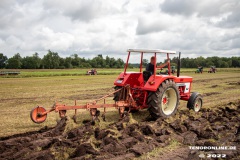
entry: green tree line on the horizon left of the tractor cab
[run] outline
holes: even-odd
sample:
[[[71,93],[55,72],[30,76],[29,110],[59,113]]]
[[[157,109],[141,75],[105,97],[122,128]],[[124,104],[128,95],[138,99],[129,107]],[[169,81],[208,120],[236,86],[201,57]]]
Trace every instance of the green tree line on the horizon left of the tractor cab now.
[[[0,68],[6,69],[65,69],[65,68],[123,68],[122,59],[103,58],[101,54],[92,59],[85,59],[73,54],[62,58],[57,52],[48,50],[48,53],[39,57],[38,53],[32,56],[21,57],[19,53],[8,58],[0,53]]]

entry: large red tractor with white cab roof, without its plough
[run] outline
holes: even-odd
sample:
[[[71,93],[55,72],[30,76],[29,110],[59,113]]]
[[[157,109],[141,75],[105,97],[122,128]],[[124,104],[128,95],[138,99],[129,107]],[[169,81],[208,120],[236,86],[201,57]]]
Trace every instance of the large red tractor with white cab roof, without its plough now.
[[[171,74],[170,54],[176,54],[175,51],[165,50],[142,50],[129,49],[128,58],[125,65],[124,72],[121,73],[114,82],[116,89],[122,88],[126,85],[130,87],[130,97],[134,104],[129,108],[131,110],[139,110],[148,108],[153,118],[169,117],[173,115],[179,105],[179,100],[188,101],[187,107],[198,112],[202,107],[202,96],[199,93],[193,92],[191,94],[192,77],[180,76],[180,52],[178,59],[177,76]],[[128,61],[131,54],[141,54],[140,71],[127,72]],[[142,59],[146,53],[152,53],[155,57],[154,73],[143,71]],[[161,66],[157,66],[157,55],[167,54],[167,62]],[[168,67],[168,74],[157,74],[157,69]],[[161,73],[161,72],[160,72]],[[123,89],[121,92],[115,93],[114,100],[126,100],[128,97],[124,95]]]

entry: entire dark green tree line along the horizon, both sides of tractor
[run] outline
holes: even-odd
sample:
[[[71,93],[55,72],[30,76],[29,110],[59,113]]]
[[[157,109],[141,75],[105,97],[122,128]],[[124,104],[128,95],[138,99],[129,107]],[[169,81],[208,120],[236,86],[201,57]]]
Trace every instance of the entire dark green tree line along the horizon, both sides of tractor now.
[[[177,57],[171,59],[171,65],[177,66]],[[143,59],[143,66],[149,61]],[[166,60],[165,60],[166,62]],[[182,68],[196,68],[197,66],[217,68],[240,67],[240,57],[197,57],[197,58],[181,58]],[[104,58],[101,54],[92,59],[81,58],[77,54],[62,58],[57,52],[48,50],[48,53],[39,57],[38,53],[32,56],[21,57],[19,53],[8,58],[0,53],[0,68],[7,69],[65,69],[65,68],[123,68],[124,61],[120,58]],[[129,64],[129,67],[139,67],[139,63]]]

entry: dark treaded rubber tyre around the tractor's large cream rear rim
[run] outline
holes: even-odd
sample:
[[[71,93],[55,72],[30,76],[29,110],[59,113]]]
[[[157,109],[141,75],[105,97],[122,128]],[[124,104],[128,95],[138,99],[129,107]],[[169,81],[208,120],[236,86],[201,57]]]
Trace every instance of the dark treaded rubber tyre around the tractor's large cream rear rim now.
[[[170,114],[165,114],[162,110],[162,98],[164,93],[168,90],[168,89],[173,89],[173,91],[176,93],[176,103],[174,105],[174,109]],[[155,92],[149,92],[148,94],[148,99],[147,99],[147,105],[148,105],[148,111],[150,113],[150,115],[152,116],[152,118],[157,119],[159,117],[163,117],[163,118],[167,118],[171,115],[174,115],[177,111],[177,107],[179,105],[179,91],[178,88],[175,84],[174,81],[172,80],[165,80],[164,82],[162,82],[162,84],[159,86],[159,88],[157,89],[157,91]],[[171,98],[170,98],[171,100]]]

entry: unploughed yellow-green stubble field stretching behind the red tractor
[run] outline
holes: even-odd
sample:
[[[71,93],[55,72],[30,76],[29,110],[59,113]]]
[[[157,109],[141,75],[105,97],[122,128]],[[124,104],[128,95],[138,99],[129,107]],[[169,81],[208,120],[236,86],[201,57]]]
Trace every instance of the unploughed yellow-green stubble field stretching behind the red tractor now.
[[[16,77],[0,78],[0,137],[39,130],[44,126],[54,126],[59,120],[58,113],[52,112],[42,124],[30,120],[30,111],[40,105],[50,109],[55,101],[73,105],[85,104],[100,98],[113,90],[113,82],[122,69],[98,69],[107,75],[83,76],[87,69],[72,70],[20,70]],[[134,69],[136,71],[136,69]],[[203,94],[205,108],[217,107],[237,101],[240,93],[240,69],[219,69],[215,74],[195,74],[194,69],[183,69],[182,75],[194,78],[192,91]],[[77,74],[81,73],[81,74]],[[64,76],[60,76],[63,75]],[[53,76],[54,75],[54,76]],[[73,76],[74,75],[74,76]],[[25,78],[21,78],[25,77]],[[112,97],[107,102],[113,103]],[[179,110],[186,109],[186,102],[181,101]],[[67,112],[73,116],[74,111]],[[78,111],[77,121],[81,125],[83,119],[90,119],[89,112]],[[143,110],[133,115],[138,121],[148,116]],[[110,109],[106,114],[107,122],[101,121],[101,127],[118,120],[118,112]]]

